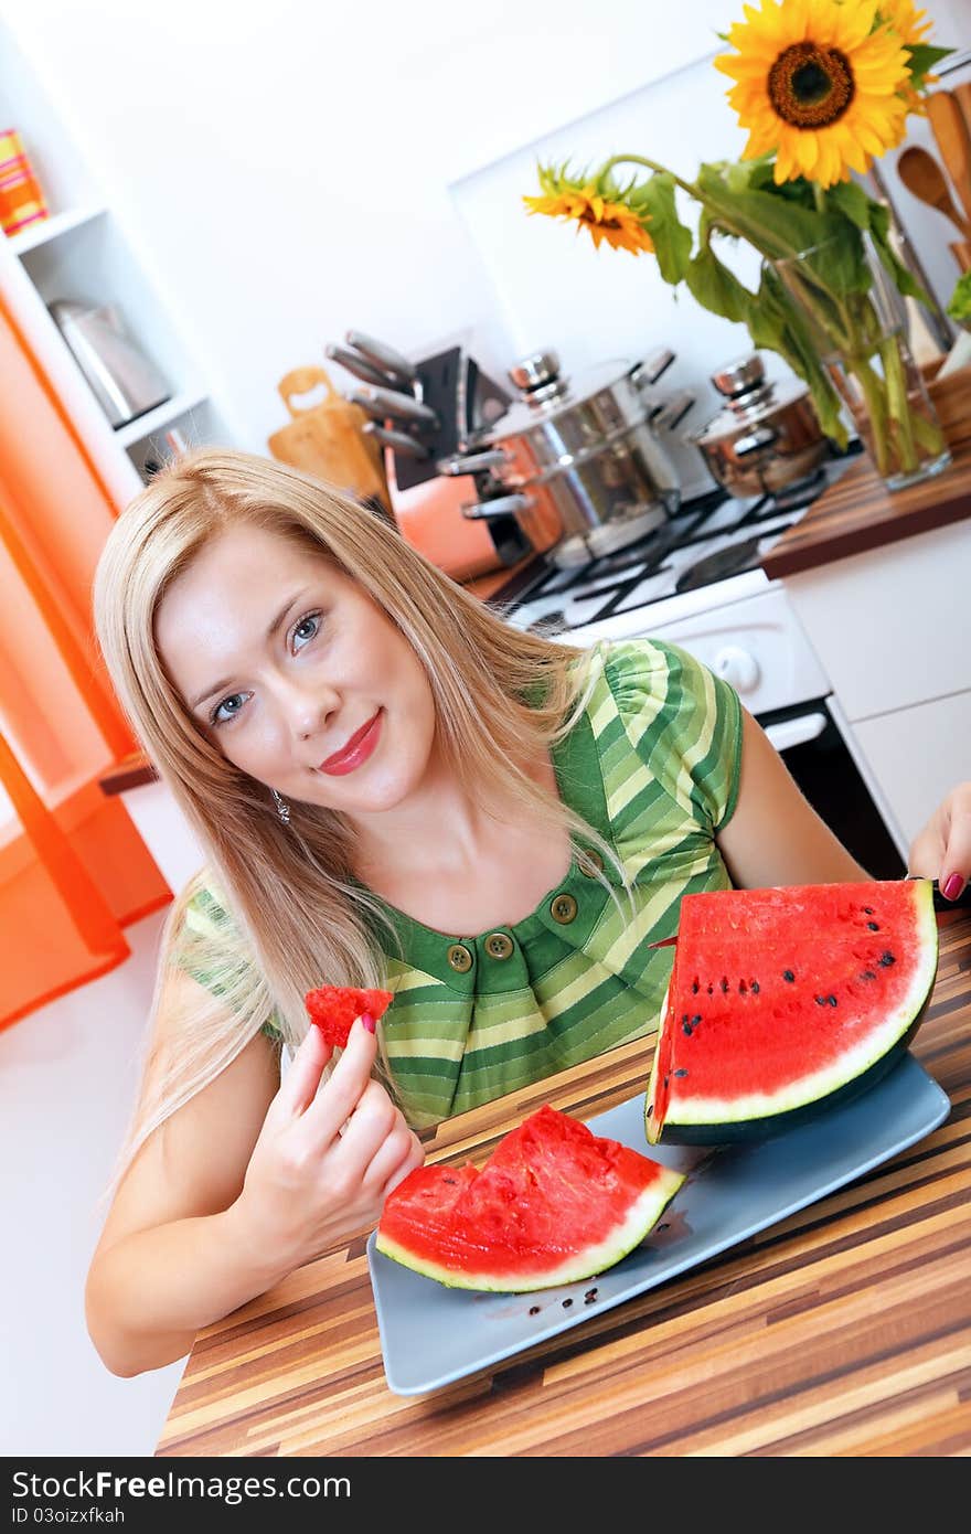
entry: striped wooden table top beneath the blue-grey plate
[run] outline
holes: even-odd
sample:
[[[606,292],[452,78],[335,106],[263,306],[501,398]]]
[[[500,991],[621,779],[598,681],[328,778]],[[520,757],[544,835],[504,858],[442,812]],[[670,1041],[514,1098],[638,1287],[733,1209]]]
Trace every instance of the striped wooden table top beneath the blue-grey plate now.
[[[971,1453],[971,914],[913,1052],[951,1100],[893,1161],[710,1262],[425,1396],[385,1382],[365,1239],[199,1333],[156,1456]],[[483,1160],[543,1101],[643,1092],[653,1039],[442,1124]]]

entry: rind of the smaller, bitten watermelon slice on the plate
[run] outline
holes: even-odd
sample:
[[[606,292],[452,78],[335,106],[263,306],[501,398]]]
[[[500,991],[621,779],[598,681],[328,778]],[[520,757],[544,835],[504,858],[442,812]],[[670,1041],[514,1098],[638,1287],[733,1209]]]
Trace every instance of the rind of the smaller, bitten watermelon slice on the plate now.
[[[603,1241],[572,1252],[555,1269],[546,1269],[543,1273],[520,1273],[517,1276],[514,1273],[500,1275],[482,1270],[472,1273],[457,1267],[445,1267],[440,1262],[416,1256],[399,1241],[382,1233],[380,1229],[374,1236],[374,1246],[382,1256],[391,1258],[393,1262],[400,1262],[402,1267],[420,1273],[422,1278],[431,1278],[446,1289],[474,1289],[494,1295],[526,1295],[537,1289],[557,1289],[561,1284],[577,1284],[581,1279],[606,1273],[609,1267],[615,1267],[621,1258],[634,1252],[655,1227],[683,1183],[684,1174],[658,1166],[658,1177],[638,1193],[627,1213]]]

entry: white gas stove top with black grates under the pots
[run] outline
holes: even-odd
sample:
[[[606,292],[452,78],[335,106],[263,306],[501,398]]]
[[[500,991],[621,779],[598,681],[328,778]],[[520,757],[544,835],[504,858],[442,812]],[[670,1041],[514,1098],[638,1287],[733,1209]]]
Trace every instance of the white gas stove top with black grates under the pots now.
[[[637,542],[577,569],[537,555],[491,595],[489,606],[512,627],[551,638],[591,626],[598,637],[621,637],[755,597],[770,586],[761,568],[769,549],[853,457],[850,451],[828,459],[778,494],[738,500],[712,489]]]

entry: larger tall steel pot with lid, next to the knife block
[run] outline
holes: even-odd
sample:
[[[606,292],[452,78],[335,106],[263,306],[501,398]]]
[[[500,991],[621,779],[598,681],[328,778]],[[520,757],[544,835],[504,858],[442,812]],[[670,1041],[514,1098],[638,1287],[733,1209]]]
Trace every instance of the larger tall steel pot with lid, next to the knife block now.
[[[442,465],[488,471],[495,494],[486,483],[463,515],[514,512],[526,528],[531,512],[546,525],[555,515],[555,563],[584,563],[658,526],[678,509],[681,483],[650,428],[658,407],[646,390],[670,360],[604,362],[571,380],[555,351],[525,357],[509,370],[522,400],[480,433],[474,457]]]

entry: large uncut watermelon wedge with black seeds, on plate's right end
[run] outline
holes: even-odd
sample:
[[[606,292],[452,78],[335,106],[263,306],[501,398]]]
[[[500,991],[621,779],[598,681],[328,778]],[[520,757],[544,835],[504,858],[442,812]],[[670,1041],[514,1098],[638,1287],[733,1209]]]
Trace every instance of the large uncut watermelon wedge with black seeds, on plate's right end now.
[[[857,1095],[907,1049],[936,973],[927,879],[684,896],[649,1143],[767,1137]]]

